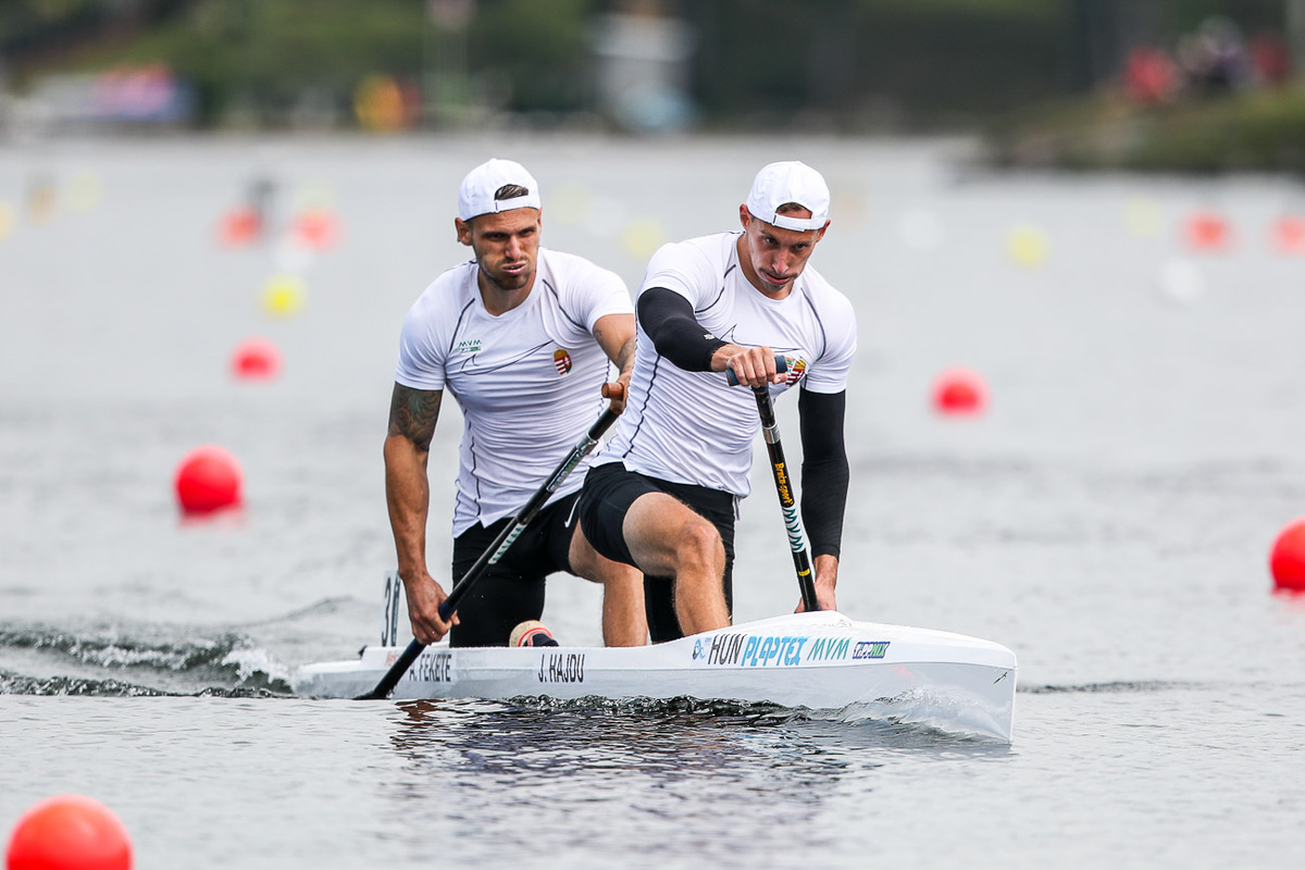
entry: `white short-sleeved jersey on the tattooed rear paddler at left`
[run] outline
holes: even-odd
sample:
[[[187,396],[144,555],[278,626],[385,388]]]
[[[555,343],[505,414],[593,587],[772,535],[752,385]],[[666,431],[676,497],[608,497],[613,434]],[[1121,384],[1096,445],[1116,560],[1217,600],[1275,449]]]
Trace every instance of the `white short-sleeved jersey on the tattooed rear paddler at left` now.
[[[515,514],[598,419],[609,363],[594,323],[630,314],[615,273],[539,249],[526,301],[485,310],[475,261],[454,266],[416,300],[399,337],[394,380],[449,391],[463,415],[453,533]],[[579,489],[586,460],[553,498]]]

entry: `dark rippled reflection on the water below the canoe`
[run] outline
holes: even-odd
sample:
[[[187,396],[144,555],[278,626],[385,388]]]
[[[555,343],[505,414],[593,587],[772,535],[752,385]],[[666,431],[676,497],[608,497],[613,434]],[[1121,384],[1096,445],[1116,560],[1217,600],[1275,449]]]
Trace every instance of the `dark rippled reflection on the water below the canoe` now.
[[[893,757],[1005,757],[1009,747],[928,728],[829,721],[765,704],[415,700],[390,746],[403,773],[388,793],[412,820],[457,835],[459,849],[559,854],[604,849],[724,858],[822,831],[826,809],[873,800]],[[720,835],[729,831],[726,845]],[[782,833],[787,832],[787,833]]]

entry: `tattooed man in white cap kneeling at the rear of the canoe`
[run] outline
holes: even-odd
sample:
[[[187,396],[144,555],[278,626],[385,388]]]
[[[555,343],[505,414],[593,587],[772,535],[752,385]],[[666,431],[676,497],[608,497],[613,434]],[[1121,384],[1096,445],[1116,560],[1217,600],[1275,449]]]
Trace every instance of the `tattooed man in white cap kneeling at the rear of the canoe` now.
[[[453,517],[453,579],[495,541],[602,406],[608,363],[620,412],[634,361],[634,313],[621,279],[539,245],[539,185],[519,163],[489,160],[458,192],[454,228],[475,254],[440,275],[408,310],[385,438],[385,492],[414,637],[454,647],[506,646],[538,620],[545,577],[603,584],[603,640],[646,642],[639,573],[592,550],[574,522],[585,466],[492,565],[445,622],[425,562],[431,438],[448,387],[463,413]]]

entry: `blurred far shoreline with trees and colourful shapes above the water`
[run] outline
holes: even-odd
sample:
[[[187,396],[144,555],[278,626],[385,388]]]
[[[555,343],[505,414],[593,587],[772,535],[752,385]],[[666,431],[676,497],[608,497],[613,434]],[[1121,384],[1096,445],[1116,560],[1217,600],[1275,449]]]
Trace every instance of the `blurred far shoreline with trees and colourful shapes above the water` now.
[[[0,143],[962,136],[1300,173],[1302,70],[1305,0],[7,0]]]

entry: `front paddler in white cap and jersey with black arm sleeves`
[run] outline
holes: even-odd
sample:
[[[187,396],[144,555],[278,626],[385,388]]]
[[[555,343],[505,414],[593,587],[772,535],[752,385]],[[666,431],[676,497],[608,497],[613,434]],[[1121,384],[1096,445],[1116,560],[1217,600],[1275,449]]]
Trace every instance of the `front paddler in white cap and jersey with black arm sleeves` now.
[[[774,395],[801,386],[801,513],[817,601],[835,608],[856,316],[808,265],[829,202],[816,170],[771,163],[739,206],[741,231],[664,245],[645,273],[630,398],[586,476],[579,515],[599,553],[645,573],[654,642],[729,625],[733,522],[760,423],[754,397],[727,372]]]

